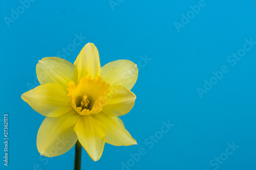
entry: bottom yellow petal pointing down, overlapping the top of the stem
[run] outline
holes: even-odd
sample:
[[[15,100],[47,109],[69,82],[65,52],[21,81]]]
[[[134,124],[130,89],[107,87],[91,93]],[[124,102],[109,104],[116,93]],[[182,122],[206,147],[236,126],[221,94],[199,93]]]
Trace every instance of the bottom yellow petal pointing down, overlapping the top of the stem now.
[[[77,138],[89,156],[97,161],[102,155],[106,135],[104,127],[91,115],[82,116],[74,127]]]

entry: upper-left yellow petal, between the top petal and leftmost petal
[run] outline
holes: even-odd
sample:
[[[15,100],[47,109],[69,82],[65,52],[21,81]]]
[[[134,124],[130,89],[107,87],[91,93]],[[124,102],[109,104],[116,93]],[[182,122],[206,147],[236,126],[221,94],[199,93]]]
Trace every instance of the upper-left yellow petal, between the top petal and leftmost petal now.
[[[74,81],[75,66],[59,57],[46,57],[36,65],[36,75],[40,84],[55,83],[65,91],[70,81]]]

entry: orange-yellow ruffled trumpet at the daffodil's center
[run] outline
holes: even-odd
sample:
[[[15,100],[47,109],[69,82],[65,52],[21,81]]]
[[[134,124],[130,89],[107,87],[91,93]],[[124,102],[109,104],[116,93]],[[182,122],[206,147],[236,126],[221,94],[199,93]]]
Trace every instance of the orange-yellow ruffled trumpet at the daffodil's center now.
[[[75,82],[69,82],[68,97],[71,105],[80,115],[98,113],[105,104],[104,96],[109,92],[110,85],[105,83],[101,77],[92,79],[91,77],[82,77],[78,85]]]

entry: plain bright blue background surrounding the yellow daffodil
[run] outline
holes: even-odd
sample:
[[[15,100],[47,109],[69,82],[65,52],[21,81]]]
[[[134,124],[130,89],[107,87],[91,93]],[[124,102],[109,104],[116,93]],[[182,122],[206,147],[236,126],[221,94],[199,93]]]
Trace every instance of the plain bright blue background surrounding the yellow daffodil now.
[[[205,0],[193,15],[190,5],[198,0],[114,2],[112,8],[109,1],[35,1],[22,11],[19,1],[1,1],[0,124],[3,129],[4,113],[9,113],[10,138],[8,167],[1,144],[1,169],[73,169],[74,148],[54,158],[39,156],[36,135],[44,116],[20,95],[39,85],[37,60],[59,53],[73,63],[88,42],[97,46],[102,66],[118,59],[140,66],[132,89],[135,106],[120,117],[138,145],[105,144],[97,162],[83,150],[82,169],[118,170],[127,161],[131,167],[124,170],[255,169],[256,44],[236,65],[227,61],[245,39],[256,41],[255,3]],[[7,23],[17,8],[19,16]],[[175,22],[182,23],[187,13],[190,19],[178,32]],[[75,34],[87,38],[63,55]],[[141,61],[145,55],[151,59],[146,63]],[[200,98],[197,88],[203,89],[204,80],[223,65],[229,71]],[[174,126],[163,134],[162,122],[168,120]],[[158,141],[150,139],[155,134]],[[232,142],[239,148],[225,158]],[[130,160],[139,148],[146,154]],[[225,160],[216,163],[220,156]]]

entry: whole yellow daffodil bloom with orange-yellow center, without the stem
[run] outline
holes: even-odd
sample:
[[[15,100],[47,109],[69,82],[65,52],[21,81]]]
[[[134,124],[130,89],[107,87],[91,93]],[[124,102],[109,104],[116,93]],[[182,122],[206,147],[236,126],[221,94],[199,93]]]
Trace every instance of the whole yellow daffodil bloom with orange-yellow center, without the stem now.
[[[136,99],[130,90],[138,68],[132,61],[117,60],[100,67],[98,50],[88,43],[74,65],[46,57],[36,65],[36,74],[41,85],[22,94],[22,99],[46,116],[37,134],[41,155],[64,154],[79,140],[97,161],[105,142],[137,144],[118,118],[133,108]]]

